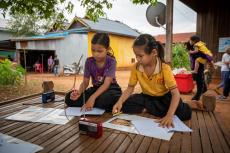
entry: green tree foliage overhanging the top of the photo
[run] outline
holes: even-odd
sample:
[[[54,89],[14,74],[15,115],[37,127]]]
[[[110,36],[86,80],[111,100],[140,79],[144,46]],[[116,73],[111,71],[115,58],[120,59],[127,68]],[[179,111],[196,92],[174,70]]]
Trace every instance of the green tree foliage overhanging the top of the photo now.
[[[104,9],[111,9],[114,0],[78,0],[86,8],[86,16],[97,21],[105,16]],[[112,1],[112,2],[111,2]],[[157,0],[131,0],[133,4],[155,4]],[[67,19],[64,13],[71,13],[73,3],[70,0],[1,0],[0,12],[9,13],[9,29],[15,36],[32,36],[47,31],[50,27],[64,29]]]

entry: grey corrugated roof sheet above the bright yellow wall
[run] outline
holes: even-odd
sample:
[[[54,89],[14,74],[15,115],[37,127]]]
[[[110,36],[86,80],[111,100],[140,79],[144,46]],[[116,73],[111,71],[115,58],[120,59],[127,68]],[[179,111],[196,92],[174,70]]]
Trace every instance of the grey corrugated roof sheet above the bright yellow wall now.
[[[137,37],[140,34],[136,30],[130,28],[126,24],[121,23],[119,21],[112,21],[103,18],[98,19],[98,22],[93,22],[88,19],[81,19],[81,20],[90,27],[89,30],[93,30],[93,31],[102,31],[102,32],[108,32],[108,33],[120,34],[120,35],[132,36],[132,37]]]

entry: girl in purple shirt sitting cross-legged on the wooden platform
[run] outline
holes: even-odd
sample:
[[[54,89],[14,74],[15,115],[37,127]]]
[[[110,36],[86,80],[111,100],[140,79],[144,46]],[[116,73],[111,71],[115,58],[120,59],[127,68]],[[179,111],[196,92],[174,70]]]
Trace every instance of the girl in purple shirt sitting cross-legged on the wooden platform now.
[[[82,107],[91,110],[93,107],[111,111],[113,105],[121,96],[121,88],[117,84],[116,60],[111,53],[109,35],[96,33],[92,40],[92,57],[85,62],[84,79],[79,90],[67,93],[65,103],[70,107]],[[93,87],[89,86],[90,78]],[[85,104],[83,102],[83,91]]]

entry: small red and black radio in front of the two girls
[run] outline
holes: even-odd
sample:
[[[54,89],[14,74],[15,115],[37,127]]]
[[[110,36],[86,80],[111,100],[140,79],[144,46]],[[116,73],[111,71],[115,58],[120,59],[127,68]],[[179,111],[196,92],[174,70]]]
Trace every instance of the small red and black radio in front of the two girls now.
[[[87,134],[93,138],[100,138],[103,133],[102,123],[92,122],[86,118],[80,119],[79,130],[82,134]]]

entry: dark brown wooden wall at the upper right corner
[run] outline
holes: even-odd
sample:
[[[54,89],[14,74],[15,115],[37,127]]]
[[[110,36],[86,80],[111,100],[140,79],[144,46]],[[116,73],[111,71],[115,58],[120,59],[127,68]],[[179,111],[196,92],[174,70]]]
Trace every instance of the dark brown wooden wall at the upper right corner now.
[[[214,54],[214,62],[220,61],[219,38],[230,37],[230,7],[227,0],[180,0],[197,12],[197,35]],[[214,77],[220,76],[220,68]]]

